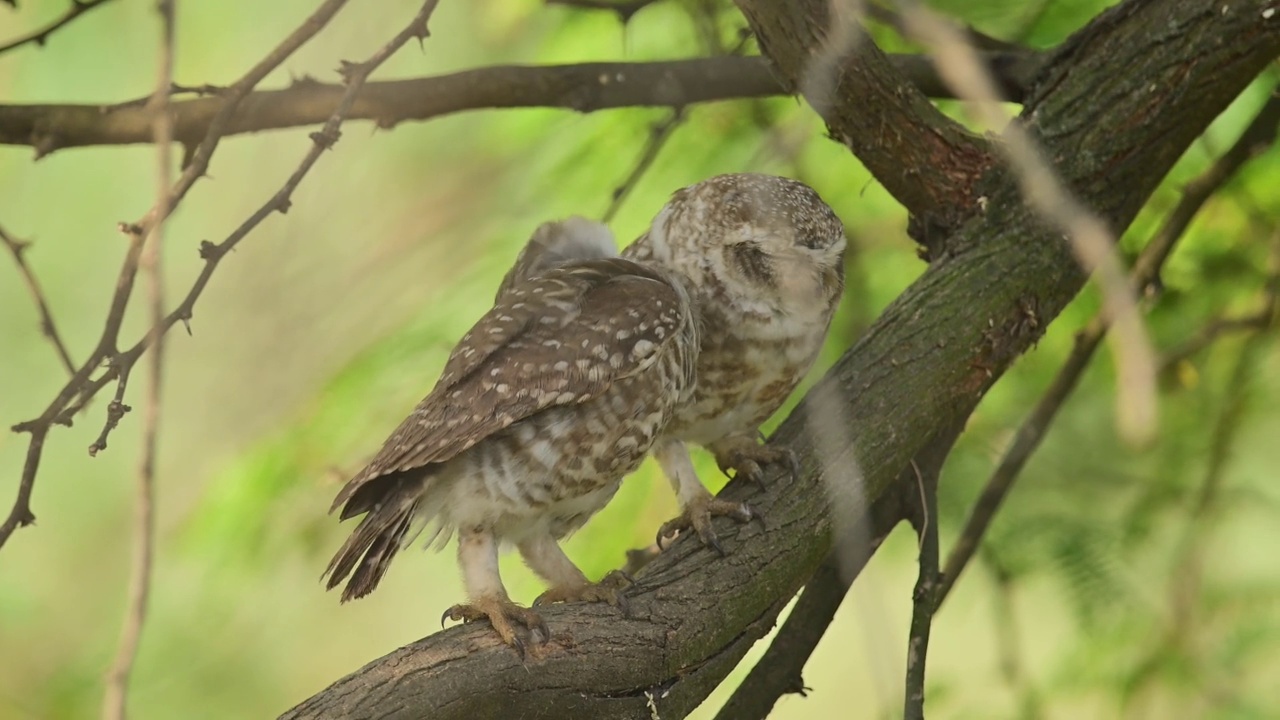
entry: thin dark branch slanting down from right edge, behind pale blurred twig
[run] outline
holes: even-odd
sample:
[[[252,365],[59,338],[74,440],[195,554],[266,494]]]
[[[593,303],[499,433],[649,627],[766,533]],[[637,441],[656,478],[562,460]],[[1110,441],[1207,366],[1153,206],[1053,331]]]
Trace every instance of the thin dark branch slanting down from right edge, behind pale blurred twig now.
[[[1129,281],[1132,287],[1140,291],[1158,282],[1165,260],[1169,259],[1169,254],[1196,218],[1196,213],[1244,163],[1275,141],[1277,123],[1280,123],[1280,97],[1272,97],[1235,143],[1208,170],[1187,184],[1178,205],[1165,218],[1164,224],[1134,261]],[[1057,411],[1075,389],[1080,374],[1088,366],[1089,359],[1102,342],[1106,331],[1106,318],[1100,314],[1076,334],[1071,354],[1057,372],[1044,396],[1018,428],[1012,443],[983,487],[973,510],[969,511],[964,530],[956,539],[955,547],[951,548],[942,571],[942,584],[938,588],[938,605],[942,605],[956,579],[969,564],[996,511],[1009,495],[1023,466],[1027,465],[1027,460],[1039,447]]]

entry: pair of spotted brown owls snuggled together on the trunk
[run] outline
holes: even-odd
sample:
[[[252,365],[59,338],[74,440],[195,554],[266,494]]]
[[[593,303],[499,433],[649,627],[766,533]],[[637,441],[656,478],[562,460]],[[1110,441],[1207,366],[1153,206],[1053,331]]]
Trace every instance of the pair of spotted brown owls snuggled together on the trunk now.
[[[844,284],[844,227],[808,186],[728,174],[677,191],[617,254],[607,228],[547,223],[503,279],[492,310],[451,354],[431,393],[338,493],[365,518],[325,574],[342,600],[371,592],[397,551],[430,527],[457,533],[468,602],[524,653],[538,612],[511,601],[498,550],[513,543],[552,601],[620,601],[618,574],[591,583],[559,541],[604,507],[653,454],[681,514],[721,550],[710,519],[750,519],[703,487],[686,443],[759,480],[792,461],[759,425],[813,364]],[[721,551],[723,552],[723,551]]]

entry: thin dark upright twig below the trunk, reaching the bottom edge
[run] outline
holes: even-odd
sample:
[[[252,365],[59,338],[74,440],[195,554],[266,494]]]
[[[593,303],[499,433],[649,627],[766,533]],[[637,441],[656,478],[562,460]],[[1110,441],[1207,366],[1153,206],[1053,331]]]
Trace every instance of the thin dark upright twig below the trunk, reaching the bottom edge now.
[[[906,688],[902,701],[905,720],[924,720],[924,667],[929,655],[929,632],[933,628],[934,600],[938,587],[938,478],[936,474],[916,478],[919,498],[911,524],[919,537],[920,571],[911,593],[911,629],[906,643]]]

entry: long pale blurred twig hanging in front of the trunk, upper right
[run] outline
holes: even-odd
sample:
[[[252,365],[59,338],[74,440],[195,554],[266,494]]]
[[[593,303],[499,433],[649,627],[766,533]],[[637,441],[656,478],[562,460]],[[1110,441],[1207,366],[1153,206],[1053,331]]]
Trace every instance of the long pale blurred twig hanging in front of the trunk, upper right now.
[[[932,49],[943,79],[983,123],[1004,128],[998,149],[1027,202],[1066,234],[1080,266],[1097,278],[1103,310],[1116,325],[1117,428],[1129,442],[1148,442],[1156,427],[1156,357],[1111,228],[1068,190],[1032,135],[1009,122],[995,79],[964,33],[918,0],[902,6],[909,35]]]

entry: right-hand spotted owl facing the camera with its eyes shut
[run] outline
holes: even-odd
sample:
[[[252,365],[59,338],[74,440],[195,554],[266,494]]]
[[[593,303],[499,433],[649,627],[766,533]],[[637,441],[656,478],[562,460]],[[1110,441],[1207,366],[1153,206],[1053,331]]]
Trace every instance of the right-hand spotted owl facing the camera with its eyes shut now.
[[[698,383],[654,443],[681,506],[658,533],[692,528],[723,555],[710,519],[751,518],[699,482],[686,443],[707,447],[724,473],[760,482],[762,464],[795,456],[760,445],[760,424],[813,365],[844,290],[845,231],[804,183],[726,174],[677,191],[623,258],[680,275],[703,322]]]

